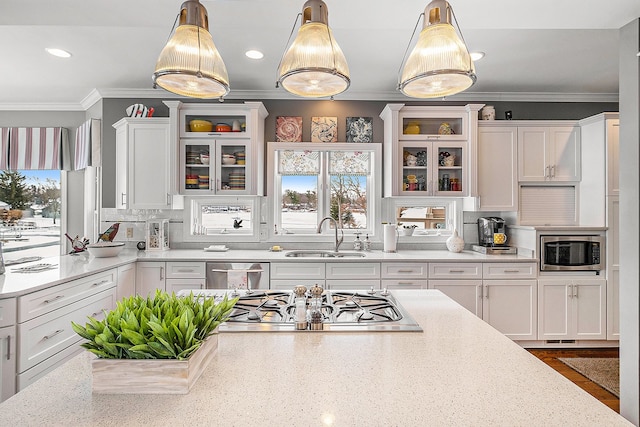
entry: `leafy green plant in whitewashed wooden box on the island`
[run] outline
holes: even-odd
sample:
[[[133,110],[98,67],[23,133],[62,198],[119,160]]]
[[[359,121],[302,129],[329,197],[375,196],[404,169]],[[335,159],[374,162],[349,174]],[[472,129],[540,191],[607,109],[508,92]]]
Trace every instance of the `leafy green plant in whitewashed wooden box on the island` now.
[[[92,360],[96,393],[188,393],[218,345],[217,327],[238,299],[178,297],[163,291],[118,301],[103,320],[73,330]]]

